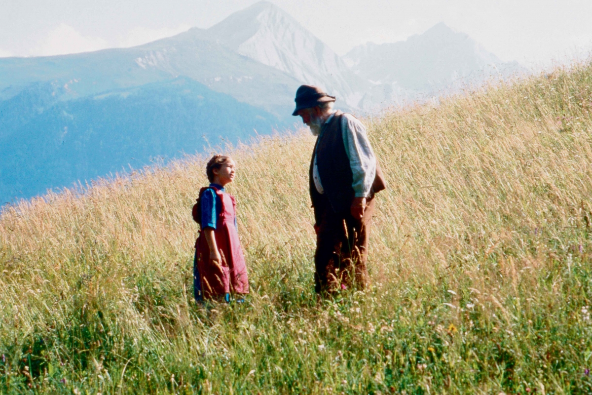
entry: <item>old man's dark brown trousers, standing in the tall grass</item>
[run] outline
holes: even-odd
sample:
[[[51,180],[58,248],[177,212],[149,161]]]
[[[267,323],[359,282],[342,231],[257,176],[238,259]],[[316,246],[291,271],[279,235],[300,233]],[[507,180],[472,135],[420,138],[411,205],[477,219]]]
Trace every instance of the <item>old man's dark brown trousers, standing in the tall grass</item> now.
[[[341,287],[368,286],[368,237],[374,213],[374,198],[366,202],[362,219],[352,214],[337,214],[326,197],[314,210],[320,210],[317,232],[317,250],[314,253],[314,290],[332,293]],[[319,211],[317,211],[317,214]]]

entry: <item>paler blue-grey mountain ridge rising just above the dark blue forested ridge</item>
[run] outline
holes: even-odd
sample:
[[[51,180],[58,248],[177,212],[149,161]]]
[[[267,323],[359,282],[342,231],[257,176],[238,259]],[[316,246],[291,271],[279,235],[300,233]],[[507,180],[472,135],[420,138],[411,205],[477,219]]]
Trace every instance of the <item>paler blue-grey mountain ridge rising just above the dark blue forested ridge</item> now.
[[[242,56],[193,28],[128,49],[0,59],[0,99],[36,82],[64,86],[60,99],[69,100],[179,76],[284,119],[300,85],[281,70]]]

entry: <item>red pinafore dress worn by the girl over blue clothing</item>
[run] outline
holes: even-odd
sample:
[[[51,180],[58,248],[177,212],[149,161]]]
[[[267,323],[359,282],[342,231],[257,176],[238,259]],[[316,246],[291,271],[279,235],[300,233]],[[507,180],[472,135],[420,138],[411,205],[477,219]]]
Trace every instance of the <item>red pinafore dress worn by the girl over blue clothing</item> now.
[[[200,288],[202,296],[205,298],[224,297],[229,293],[248,294],[247,266],[240,246],[239,233],[234,225],[236,201],[226,192],[215,187],[210,188],[216,192],[222,202],[220,216],[218,216],[214,230],[222,264],[210,263],[210,246],[208,246],[204,232],[200,232],[200,236],[195,242],[197,273],[194,276],[195,282],[199,282],[195,286]],[[195,297],[198,299],[197,289]]]

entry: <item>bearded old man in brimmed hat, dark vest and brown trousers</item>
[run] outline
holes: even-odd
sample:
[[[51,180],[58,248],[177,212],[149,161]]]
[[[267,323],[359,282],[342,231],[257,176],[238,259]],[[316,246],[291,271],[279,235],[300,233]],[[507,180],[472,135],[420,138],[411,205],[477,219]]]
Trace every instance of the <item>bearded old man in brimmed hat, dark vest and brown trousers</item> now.
[[[374,194],[385,182],[366,129],[351,114],[333,110],[335,97],[317,86],[296,91],[296,109],[317,142],[310,163],[310,198],[317,249],[315,291],[333,293],[368,285],[369,226]]]

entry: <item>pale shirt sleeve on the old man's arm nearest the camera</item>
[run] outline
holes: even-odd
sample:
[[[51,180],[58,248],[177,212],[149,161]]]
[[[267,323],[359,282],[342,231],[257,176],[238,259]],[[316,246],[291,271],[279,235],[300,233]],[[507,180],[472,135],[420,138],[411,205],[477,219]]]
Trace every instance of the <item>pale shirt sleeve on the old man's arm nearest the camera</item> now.
[[[343,114],[343,144],[352,168],[352,187],[356,197],[368,197],[376,176],[376,157],[366,128],[353,115]]]

